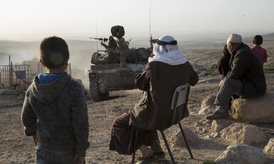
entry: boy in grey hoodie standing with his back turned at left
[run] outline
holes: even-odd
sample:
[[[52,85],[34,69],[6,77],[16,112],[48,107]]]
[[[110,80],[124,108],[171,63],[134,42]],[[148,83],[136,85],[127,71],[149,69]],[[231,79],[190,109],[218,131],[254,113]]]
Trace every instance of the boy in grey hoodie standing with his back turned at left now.
[[[88,113],[81,85],[66,73],[68,45],[51,36],[40,45],[46,74],[35,76],[26,91],[21,119],[37,145],[35,163],[85,163]]]

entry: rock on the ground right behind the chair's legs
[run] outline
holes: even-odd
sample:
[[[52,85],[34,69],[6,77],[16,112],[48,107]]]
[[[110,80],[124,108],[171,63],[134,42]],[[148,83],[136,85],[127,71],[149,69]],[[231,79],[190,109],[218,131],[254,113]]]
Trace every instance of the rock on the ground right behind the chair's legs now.
[[[183,128],[183,133],[185,133],[186,135],[186,140],[188,140],[188,144],[201,142],[201,139],[196,135],[196,133],[193,133],[193,131],[189,130],[188,128]],[[171,135],[170,141],[172,145],[186,146],[181,130],[173,133],[173,135]]]

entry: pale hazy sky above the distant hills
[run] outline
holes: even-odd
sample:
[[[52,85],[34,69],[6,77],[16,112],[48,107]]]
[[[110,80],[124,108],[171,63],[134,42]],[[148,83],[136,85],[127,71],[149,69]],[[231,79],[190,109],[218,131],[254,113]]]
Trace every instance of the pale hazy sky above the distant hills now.
[[[150,9],[151,6],[151,9]],[[0,39],[274,32],[273,0],[0,0]],[[150,12],[151,11],[151,12]],[[151,17],[150,17],[151,13]]]

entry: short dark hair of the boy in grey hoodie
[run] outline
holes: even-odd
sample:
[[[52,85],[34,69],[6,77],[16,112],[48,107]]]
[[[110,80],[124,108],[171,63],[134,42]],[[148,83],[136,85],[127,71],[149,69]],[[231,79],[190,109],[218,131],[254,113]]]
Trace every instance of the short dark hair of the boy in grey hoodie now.
[[[68,45],[64,39],[51,36],[41,42],[40,58],[47,68],[60,68],[68,57]]]

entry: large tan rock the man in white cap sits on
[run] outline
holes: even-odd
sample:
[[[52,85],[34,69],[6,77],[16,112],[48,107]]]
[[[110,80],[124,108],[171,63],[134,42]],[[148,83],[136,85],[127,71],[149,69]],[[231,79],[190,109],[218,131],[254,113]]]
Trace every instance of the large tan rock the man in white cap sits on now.
[[[250,123],[274,123],[274,93],[259,98],[238,98],[233,101],[233,118]]]

